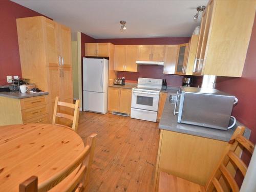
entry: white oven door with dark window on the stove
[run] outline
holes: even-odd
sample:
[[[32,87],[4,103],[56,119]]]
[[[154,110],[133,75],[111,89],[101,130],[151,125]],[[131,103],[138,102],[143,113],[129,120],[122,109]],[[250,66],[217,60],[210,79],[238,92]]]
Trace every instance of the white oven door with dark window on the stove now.
[[[142,110],[158,110],[159,92],[133,90],[132,108]]]

